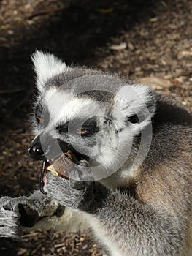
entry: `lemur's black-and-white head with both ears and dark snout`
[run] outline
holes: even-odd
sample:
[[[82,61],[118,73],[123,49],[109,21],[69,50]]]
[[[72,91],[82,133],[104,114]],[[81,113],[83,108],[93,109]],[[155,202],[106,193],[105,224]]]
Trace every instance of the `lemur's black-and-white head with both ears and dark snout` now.
[[[36,136],[29,155],[54,161],[72,151],[79,161],[88,162],[97,179],[128,170],[142,132],[150,138],[155,113],[152,89],[104,72],[66,67],[55,56],[39,51],[32,60],[38,96],[33,119]],[[140,154],[145,157],[146,152],[142,148]]]

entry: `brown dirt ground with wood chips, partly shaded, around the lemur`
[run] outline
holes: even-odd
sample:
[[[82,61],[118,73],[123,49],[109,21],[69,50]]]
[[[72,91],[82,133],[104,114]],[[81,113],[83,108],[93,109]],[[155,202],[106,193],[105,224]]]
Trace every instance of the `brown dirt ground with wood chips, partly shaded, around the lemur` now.
[[[0,195],[28,195],[41,164],[27,148],[36,48],[66,64],[116,72],[172,94],[192,110],[191,0],[2,0],[0,2]],[[0,255],[101,256],[90,234],[26,233],[1,238]]]

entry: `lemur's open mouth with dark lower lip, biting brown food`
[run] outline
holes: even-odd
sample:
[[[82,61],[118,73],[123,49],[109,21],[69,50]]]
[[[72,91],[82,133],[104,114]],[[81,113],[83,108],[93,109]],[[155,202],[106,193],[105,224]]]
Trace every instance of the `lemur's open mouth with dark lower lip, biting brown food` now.
[[[72,151],[67,151],[66,153],[63,153],[58,157],[57,159],[54,159],[51,163],[49,160],[45,160],[42,162],[42,173],[40,178],[40,190],[42,193],[46,194],[44,187],[47,184],[47,178],[46,173],[47,171],[50,171],[55,176],[59,176],[61,178],[69,179],[69,173],[68,171],[72,167],[72,165],[80,165],[81,160],[88,161],[88,157],[85,155],[76,153]]]

